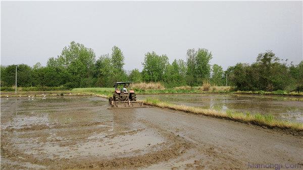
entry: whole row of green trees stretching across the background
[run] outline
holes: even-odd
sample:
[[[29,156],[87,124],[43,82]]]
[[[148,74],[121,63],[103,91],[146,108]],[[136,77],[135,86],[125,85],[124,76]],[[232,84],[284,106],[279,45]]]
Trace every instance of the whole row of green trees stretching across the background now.
[[[302,88],[303,61],[298,65],[287,64],[272,51],[260,53],[252,64],[237,63],[223,70],[218,64],[210,64],[213,54],[205,48],[188,49],[186,61],[147,52],[142,62],[143,69],[126,71],[124,54],[117,46],[110,54],[96,58],[91,48],[72,41],[61,54],[47,60],[46,66],[36,63],[1,65],[1,86],[15,85],[17,66],[18,87],[112,87],[116,81],[162,82],[166,87],[201,86],[210,82],[216,86],[228,85],[238,90],[288,90]],[[226,77],[227,76],[227,77]]]

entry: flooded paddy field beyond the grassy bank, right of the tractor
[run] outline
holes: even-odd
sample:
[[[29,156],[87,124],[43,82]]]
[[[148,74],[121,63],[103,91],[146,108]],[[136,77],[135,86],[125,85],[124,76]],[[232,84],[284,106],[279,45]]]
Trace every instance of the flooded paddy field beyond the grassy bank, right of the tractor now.
[[[155,98],[175,104],[219,111],[233,110],[272,114],[288,121],[303,122],[303,97],[234,95],[234,94],[170,94],[138,95],[138,99]]]

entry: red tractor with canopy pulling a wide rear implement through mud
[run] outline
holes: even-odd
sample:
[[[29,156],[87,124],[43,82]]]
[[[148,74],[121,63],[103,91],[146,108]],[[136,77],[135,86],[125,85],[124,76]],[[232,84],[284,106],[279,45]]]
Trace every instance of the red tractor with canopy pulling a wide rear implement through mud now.
[[[112,108],[140,108],[144,107],[142,102],[136,101],[135,91],[131,89],[133,82],[115,82],[115,92],[109,98]],[[136,106],[139,104],[139,106]]]

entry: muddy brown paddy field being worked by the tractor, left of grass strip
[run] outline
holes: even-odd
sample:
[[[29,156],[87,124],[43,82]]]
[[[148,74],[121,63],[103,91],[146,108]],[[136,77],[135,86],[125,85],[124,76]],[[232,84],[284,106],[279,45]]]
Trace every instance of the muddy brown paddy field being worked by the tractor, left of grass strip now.
[[[91,96],[1,98],[1,168],[302,165],[302,136],[160,108],[108,110]]]

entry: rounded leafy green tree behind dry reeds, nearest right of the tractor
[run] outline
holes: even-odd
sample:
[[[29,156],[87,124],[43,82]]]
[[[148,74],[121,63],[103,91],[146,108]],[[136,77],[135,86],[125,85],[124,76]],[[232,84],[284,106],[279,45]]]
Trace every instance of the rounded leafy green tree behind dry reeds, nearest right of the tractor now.
[[[166,55],[157,55],[154,51],[145,54],[142,70],[144,81],[163,81],[169,62]]]

